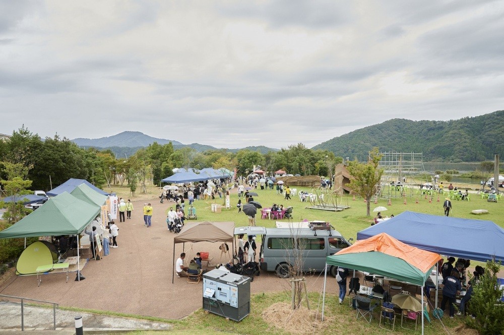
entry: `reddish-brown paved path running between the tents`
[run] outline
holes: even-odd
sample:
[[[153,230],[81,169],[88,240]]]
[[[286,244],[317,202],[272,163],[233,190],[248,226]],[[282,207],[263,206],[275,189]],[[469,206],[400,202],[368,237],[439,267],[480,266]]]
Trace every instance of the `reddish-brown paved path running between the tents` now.
[[[202,200],[200,200],[202,201]],[[118,222],[118,248],[102,260],[91,260],[82,270],[84,281],[75,282],[75,272],[65,283],[63,274],[44,275],[37,287],[36,276],[12,275],[0,285],[0,294],[32,298],[85,309],[107,310],[166,319],[179,319],[202,307],[202,284],[188,284],[186,278],[175,276],[173,270],[173,233],[166,227],[165,210],[173,203],[151,201],[154,207],[152,227],[144,227],[143,204],[134,202],[131,220]],[[200,207],[202,203],[199,203]],[[210,202],[205,203],[210,208]],[[173,206],[174,207],[174,206]],[[201,212],[201,210],[200,210]],[[214,216],[215,215],[215,216]],[[209,213],[198,218],[218,219],[219,214]],[[246,225],[246,216],[237,216],[236,225]],[[229,246],[231,248],[231,245]],[[198,251],[209,251],[214,261],[219,261],[219,243],[185,243],[190,259]],[[182,244],[175,247],[175,258],[182,252]],[[221,262],[227,262],[222,259]],[[309,276],[308,290],[321,292],[323,276]],[[336,292],[334,278],[328,281],[328,292]],[[252,293],[290,290],[288,282],[273,273],[261,273],[251,285]],[[0,298],[2,299],[2,298]]]

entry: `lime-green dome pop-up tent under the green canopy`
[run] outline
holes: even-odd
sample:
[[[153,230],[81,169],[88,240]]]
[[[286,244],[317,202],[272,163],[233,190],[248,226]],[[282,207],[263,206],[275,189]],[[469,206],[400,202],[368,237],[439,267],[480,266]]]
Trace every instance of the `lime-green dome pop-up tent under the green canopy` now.
[[[48,243],[47,243],[48,244]],[[19,256],[16,263],[16,274],[34,274],[40,265],[52,264],[58,255],[51,251],[44,241],[30,244]]]

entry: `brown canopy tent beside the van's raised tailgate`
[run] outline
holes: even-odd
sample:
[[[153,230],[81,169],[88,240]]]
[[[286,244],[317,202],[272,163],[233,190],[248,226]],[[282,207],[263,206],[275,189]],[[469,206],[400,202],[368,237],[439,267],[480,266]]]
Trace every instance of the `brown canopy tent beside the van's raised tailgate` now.
[[[180,234],[173,238],[173,266],[175,266],[175,244],[185,242],[231,242],[234,250],[234,222],[191,222],[186,224]],[[175,268],[171,275],[174,283]]]

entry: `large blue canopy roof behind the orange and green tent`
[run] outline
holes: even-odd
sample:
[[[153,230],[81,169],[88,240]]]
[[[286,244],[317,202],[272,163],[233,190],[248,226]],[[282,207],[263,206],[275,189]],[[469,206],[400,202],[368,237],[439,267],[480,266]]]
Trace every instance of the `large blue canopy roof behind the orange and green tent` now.
[[[504,229],[492,221],[405,211],[358,232],[357,240],[380,233],[441,255],[504,261]]]

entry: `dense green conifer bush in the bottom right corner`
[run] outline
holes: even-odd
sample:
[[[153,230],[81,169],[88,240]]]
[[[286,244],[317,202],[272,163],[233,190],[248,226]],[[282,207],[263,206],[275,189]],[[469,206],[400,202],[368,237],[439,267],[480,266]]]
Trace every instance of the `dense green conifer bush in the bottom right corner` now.
[[[486,271],[471,296],[471,313],[475,319],[468,319],[467,324],[483,335],[504,333],[504,303],[500,300],[504,288],[497,283],[500,262],[486,262]]]

